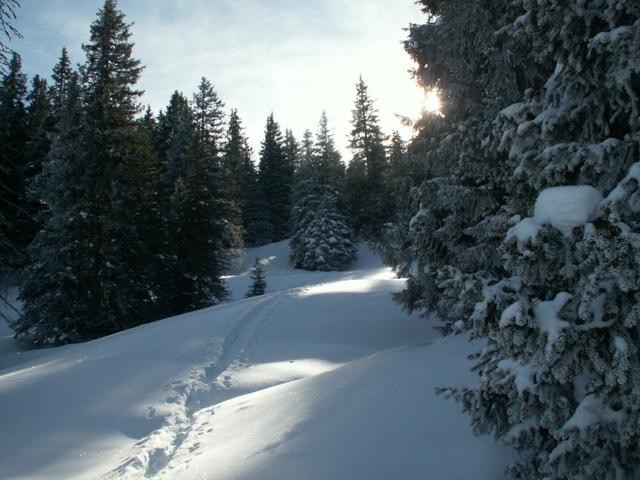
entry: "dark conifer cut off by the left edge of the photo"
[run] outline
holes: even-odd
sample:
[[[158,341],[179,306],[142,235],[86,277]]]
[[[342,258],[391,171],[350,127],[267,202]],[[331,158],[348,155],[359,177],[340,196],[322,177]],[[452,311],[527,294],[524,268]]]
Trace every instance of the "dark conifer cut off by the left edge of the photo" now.
[[[0,83],[0,221],[5,237],[0,268],[15,268],[25,261],[23,249],[29,242],[29,212],[25,201],[25,148],[27,118],[24,105],[26,76],[22,60],[16,53],[11,57],[7,73]]]

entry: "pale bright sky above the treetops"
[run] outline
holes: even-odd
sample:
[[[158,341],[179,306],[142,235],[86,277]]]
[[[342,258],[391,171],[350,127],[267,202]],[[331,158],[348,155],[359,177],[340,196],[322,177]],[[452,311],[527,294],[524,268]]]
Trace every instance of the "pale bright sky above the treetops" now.
[[[20,0],[16,26],[29,75],[49,76],[60,49],[73,63],[103,0]],[[174,90],[191,98],[202,76],[237,108],[254,156],[274,112],[300,139],[315,133],[326,110],[345,160],[355,83],[360,75],[376,100],[385,133],[400,130],[398,115],[417,117],[424,92],[411,78],[404,30],[424,18],[413,0],[120,0],[133,22],[134,56],[146,66],[144,104],[165,108]]]

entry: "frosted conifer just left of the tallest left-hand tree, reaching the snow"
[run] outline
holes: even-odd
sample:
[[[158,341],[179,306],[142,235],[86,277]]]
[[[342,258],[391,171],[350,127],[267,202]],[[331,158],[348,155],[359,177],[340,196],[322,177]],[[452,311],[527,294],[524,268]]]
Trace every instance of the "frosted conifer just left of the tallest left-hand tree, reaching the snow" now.
[[[81,341],[99,336],[87,321],[97,313],[97,265],[89,231],[90,171],[83,161],[83,111],[77,76],[72,76],[52,138],[51,150],[37,178],[39,198],[48,218],[32,243],[33,262],[26,269],[20,295],[22,316],[11,327],[16,338],[35,345]],[[103,334],[109,333],[104,328]]]

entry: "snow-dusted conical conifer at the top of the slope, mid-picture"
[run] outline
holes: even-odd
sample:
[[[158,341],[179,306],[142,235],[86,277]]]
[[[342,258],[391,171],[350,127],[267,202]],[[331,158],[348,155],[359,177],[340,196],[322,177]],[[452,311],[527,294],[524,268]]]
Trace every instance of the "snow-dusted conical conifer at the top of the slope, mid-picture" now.
[[[296,175],[291,212],[291,263],[305,270],[344,270],[356,260],[353,232],[343,215],[344,165],[323,112],[312,158]]]

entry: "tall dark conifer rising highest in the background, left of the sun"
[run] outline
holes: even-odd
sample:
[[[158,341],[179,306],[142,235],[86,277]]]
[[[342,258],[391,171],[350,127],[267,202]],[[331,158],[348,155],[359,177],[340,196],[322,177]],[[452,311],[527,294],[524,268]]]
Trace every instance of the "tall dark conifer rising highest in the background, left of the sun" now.
[[[389,219],[391,206],[385,182],[387,159],[377,111],[362,77],[356,84],[347,170],[347,201],[354,228],[374,239]]]

